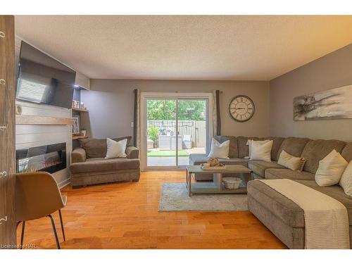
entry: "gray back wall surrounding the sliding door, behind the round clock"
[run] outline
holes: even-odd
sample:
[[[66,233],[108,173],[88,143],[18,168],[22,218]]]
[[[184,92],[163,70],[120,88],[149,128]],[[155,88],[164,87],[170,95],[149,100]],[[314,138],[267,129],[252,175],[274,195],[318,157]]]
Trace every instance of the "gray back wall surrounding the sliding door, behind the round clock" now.
[[[269,123],[269,82],[257,81],[178,81],[178,80],[91,80],[91,90],[81,91],[89,109],[89,130],[94,138],[132,135],[133,89],[141,92],[212,92],[220,94],[222,134],[267,137]],[[228,104],[239,94],[251,97],[256,113],[248,122],[230,118]]]

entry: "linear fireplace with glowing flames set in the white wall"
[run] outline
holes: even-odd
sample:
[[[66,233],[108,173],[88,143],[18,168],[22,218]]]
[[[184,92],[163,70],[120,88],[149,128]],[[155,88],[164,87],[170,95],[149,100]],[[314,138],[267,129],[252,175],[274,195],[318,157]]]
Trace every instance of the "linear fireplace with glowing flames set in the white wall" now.
[[[16,151],[17,172],[57,172],[66,168],[66,143]]]

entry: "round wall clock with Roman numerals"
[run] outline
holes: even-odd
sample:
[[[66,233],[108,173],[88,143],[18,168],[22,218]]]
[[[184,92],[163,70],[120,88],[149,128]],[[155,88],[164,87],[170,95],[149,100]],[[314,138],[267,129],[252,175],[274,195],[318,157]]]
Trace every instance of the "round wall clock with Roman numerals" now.
[[[236,121],[248,121],[254,114],[254,103],[248,96],[234,96],[229,104],[229,113]]]

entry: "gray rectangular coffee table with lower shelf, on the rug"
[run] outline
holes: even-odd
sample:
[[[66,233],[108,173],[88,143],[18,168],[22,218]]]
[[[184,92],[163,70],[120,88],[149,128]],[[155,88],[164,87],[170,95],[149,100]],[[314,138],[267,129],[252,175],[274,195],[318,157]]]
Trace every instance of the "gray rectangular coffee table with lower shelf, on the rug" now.
[[[203,170],[201,165],[187,166],[186,186],[188,194],[246,194],[247,182],[253,180],[252,171],[244,165],[226,165],[225,170]],[[194,174],[213,173],[213,182],[191,182]],[[226,189],[222,183],[222,177],[226,174],[238,174],[242,182],[239,189]]]

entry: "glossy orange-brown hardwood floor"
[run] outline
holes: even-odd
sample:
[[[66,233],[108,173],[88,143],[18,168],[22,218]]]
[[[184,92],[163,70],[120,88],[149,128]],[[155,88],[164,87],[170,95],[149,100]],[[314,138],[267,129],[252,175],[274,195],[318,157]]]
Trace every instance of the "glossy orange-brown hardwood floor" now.
[[[249,212],[158,213],[163,182],[184,182],[184,172],[142,172],[139,182],[65,187],[66,241],[62,249],[286,249]],[[49,218],[25,225],[24,244],[55,249]],[[21,226],[18,226],[18,244]]]

